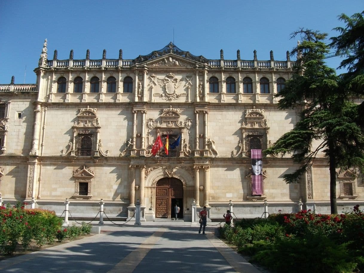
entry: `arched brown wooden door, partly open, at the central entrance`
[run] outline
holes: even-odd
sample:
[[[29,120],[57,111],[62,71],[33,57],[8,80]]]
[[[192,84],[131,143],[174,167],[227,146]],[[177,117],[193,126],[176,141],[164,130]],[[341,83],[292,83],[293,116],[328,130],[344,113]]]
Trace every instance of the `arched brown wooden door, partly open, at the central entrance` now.
[[[162,178],[155,190],[155,217],[172,218],[172,208],[177,203],[180,207],[178,218],[183,219],[183,184],[177,178]]]

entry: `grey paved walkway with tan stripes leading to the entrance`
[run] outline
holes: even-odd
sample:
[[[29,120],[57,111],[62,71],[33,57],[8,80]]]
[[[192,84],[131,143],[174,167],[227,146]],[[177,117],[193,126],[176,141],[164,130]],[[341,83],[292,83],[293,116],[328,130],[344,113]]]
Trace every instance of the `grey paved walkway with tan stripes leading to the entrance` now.
[[[109,223],[100,234],[0,261],[0,272],[266,272],[215,237],[214,226],[203,235],[182,221]]]

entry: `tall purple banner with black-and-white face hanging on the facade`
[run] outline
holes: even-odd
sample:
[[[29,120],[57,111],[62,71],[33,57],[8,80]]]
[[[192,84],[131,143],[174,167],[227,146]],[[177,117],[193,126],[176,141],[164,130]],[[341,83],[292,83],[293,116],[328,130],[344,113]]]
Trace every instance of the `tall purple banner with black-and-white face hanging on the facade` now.
[[[263,162],[262,162],[262,150],[252,149],[252,195],[263,194]]]

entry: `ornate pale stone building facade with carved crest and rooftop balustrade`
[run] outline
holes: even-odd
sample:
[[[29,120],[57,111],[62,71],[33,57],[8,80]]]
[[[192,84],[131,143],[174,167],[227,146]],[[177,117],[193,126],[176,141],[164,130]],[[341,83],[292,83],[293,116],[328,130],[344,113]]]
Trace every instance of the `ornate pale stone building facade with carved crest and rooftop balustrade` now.
[[[300,109],[279,110],[294,62],[210,60],[173,43],[125,60],[48,58],[47,40],[35,84],[0,85],[0,192],[4,202],[92,217],[100,199],[110,217],[131,218],[139,200],[142,221],[193,219],[191,206],[207,206],[221,219],[298,211],[329,213],[329,169],[319,156],[299,184],[290,155],[261,159],[254,188],[252,150],[264,150],[293,129]],[[158,137],[163,147],[154,155]],[[165,143],[169,142],[168,153]],[[338,207],[363,203],[358,170],[338,170]]]

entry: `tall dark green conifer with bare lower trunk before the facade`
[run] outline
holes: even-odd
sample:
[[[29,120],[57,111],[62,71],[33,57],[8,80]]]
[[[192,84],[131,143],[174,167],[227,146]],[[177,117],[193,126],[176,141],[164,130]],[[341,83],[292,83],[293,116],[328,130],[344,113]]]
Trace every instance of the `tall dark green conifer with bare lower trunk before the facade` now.
[[[293,154],[293,161],[301,166],[283,178],[287,183],[297,183],[321,151],[328,158],[330,170],[331,213],[337,213],[336,169],[363,166],[363,127],[357,104],[348,99],[342,80],[324,62],[329,52],[324,43],[327,33],[301,28],[291,38],[297,35],[303,40],[291,52],[297,54],[294,74],[276,96],[280,98],[278,108],[301,109],[300,120],[264,153]],[[312,147],[315,140],[320,144]]]

